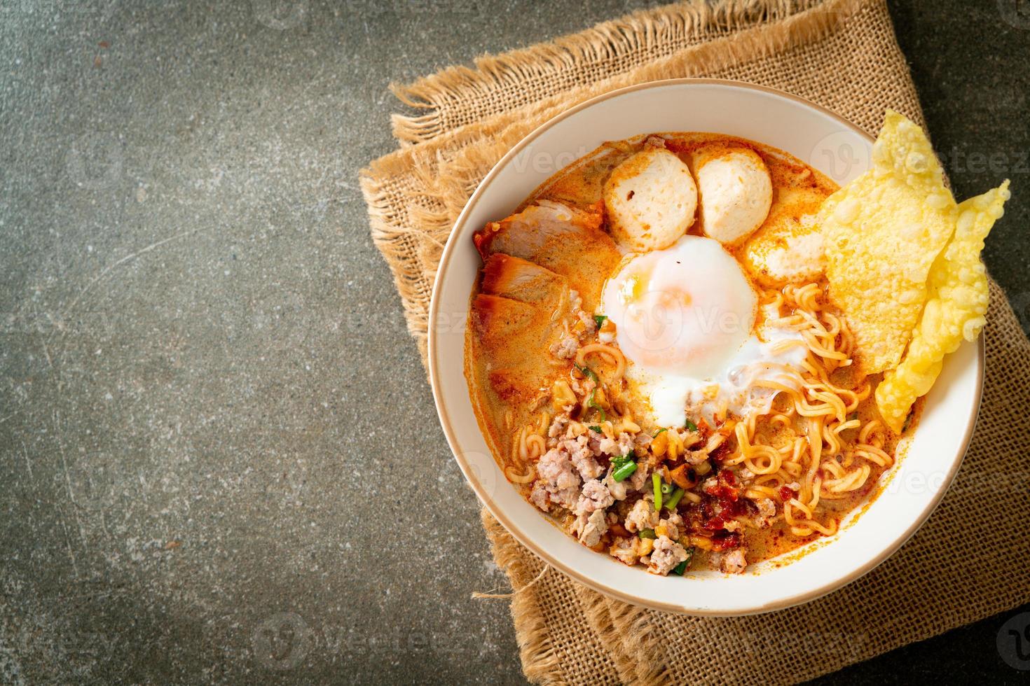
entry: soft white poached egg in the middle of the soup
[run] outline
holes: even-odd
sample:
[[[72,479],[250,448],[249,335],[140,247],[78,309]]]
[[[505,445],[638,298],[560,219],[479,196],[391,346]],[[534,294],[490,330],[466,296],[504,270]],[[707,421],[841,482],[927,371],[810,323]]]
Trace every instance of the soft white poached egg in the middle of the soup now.
[[[808,353],[803,339],[776,327],[775,314],[756,327],[754,288],[713,239],[684,236],[628,256],[602,302],[630,363],[627,380],[659,426],[683,426],[688,411],[713,424],[727,411],[767,411],[776,392],[756,386],[762,380],[796,388],[789,370]]]

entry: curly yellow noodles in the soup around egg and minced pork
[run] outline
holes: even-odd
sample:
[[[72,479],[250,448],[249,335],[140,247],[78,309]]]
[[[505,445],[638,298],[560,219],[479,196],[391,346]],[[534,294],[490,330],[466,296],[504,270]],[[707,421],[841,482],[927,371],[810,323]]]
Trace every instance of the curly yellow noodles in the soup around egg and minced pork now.
[[[872,384],[865,377],[852,378],[854,374],[844,370],[852,364],[855,336],[844,317],[828,311],[824,285],[809,283],[764,290],[760,303],[766,320],[799,336],[775,342],[774,354],[801,348],[804,355],[800,365],[770,364],[771,373],[754,384],[771,392],[764,411],[737,420],[729,416],[722,401],[714,411],[718,431],[712,432],[703,445],[685,444],[679,431],[668,429],[659,441],[661,456],[672,468],[691,449],[712,454],[728,447],[719,458],[721,464],[746,468],[751,473],[742,491],[745,498],[782,503],[783,522],[794,536],[832,535],[839,527],[839,513],[828,509],[833,507],[830,503],[860,492],[874,474],[894,464],[894,458],[884,449],[891,434],[879,420],[855,418],[870,397]],[[644,431],[623,397],[621,381],[627,366],[623,353],[614,345],[590,344],[577,351],[576,363],[585,366],[591,358],[603,363],[593,367],[600,380],[594,400],[607,410],[606,421],[591,426],[610,439],[617,439],[623,432]],[[586,403],[592,387],[585,380],[574,394],[579,396],[576,400],[582,416],[589,409]],[[552,420],[551,413],[542,411],[538,420],[514,435],[513,464],[505,468],[509,479],[517,483],[533,480],[534,462],[546,453]],[[589,433],[589,427],[573,420],[569,431],[582,436]],[[648,431],[653,433],[650,428]],[[708,462],[691,464],[699,478],[706,478],[703,475],[712,470]],[[683,498],[690,503],[701,502],[701,496],[693,491],[687,491]],[[780,517],[774,515],[775,519]]]

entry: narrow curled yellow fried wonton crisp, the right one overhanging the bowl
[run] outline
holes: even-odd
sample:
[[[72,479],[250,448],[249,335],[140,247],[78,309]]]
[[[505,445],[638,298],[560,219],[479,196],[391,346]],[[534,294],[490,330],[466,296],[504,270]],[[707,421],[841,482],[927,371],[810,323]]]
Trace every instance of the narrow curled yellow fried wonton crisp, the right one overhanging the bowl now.
[[[926,395],[940,373],[945,355],[962,339],[975,340],[986,323],[987,270],[984,239],[1002,215],[1008,181],[956,208],[955,234],[930,267],[929,299],[908,350],[896,369],[884,373],[877,405],[887,425],[900,432],[916,398]]]

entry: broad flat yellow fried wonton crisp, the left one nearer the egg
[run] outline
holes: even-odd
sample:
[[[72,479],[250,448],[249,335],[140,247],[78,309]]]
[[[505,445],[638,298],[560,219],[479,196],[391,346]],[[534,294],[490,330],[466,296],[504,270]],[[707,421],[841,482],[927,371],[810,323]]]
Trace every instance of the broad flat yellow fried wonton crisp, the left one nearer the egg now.
[[[923,130],[888,110],[872,169],[827,197],[817,218],[830,298],[847,313],[864,373],[901,361],[955,207]]]

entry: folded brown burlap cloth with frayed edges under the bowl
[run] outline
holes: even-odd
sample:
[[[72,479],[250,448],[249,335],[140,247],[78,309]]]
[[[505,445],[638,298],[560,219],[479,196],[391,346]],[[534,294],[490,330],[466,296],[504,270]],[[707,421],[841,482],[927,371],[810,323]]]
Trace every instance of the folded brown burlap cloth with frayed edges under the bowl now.
[[[362,175],[373,238],[425,356],[444,243],[479,180],[556,113],[616,87],[714,76],[810,98],[874,133],[922,122],[884,0],[673,5],[396,87],[401,149]],[[862,579],[800,608],[733,619],[636,608],[587,589],[483,522],[511,579],[526,677],[546,683],[778,683],[837,670],[1030,600],[1030,342],[992,282],[987,380],[965,463],[930,520]],[[543,574],[542,574],[543,572]],[[542,575],[541,575],[542,574]]]

